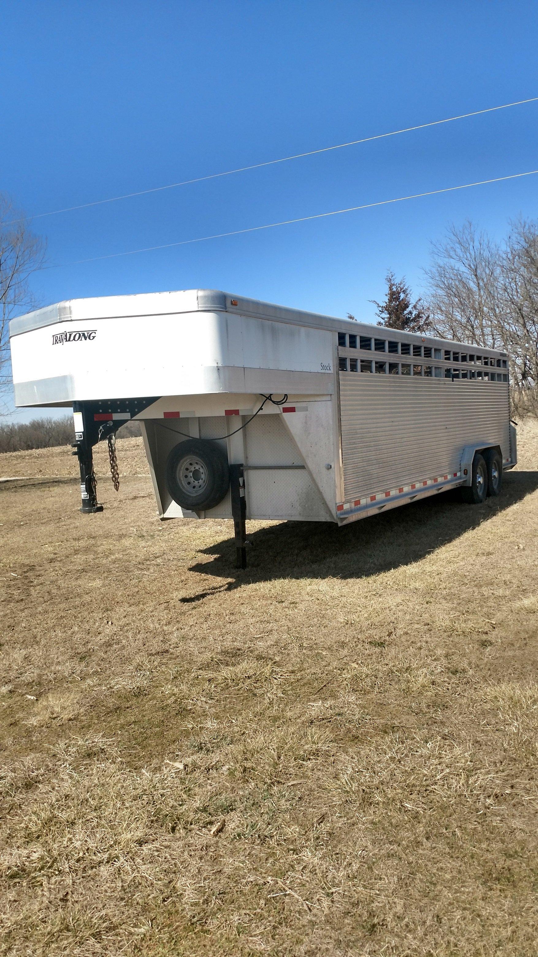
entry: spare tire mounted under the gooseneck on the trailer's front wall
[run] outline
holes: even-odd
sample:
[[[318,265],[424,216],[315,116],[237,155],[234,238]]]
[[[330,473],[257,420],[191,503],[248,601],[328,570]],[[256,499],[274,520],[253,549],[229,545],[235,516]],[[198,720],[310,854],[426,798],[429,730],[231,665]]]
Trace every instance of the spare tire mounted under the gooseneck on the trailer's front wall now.
[[[214,442],[190,438],[168,454],[166,480],[169,494],[182,508],[213,508],[230,486],[228,459]]]

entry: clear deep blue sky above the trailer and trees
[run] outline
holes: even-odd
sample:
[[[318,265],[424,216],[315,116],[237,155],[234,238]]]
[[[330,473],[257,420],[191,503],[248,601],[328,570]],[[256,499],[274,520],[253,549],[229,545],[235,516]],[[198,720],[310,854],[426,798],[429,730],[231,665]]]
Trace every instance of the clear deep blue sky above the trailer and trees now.
[[[33,215],[537,96],[537,40],[538,5],[508,0],[4,0],[0,189]],[[212,287],[371,321],[388,269],[421,292],[447,224],[536,216],[538,176],[59,264],[537,167],[538,102],[36,218],[35,295]]]

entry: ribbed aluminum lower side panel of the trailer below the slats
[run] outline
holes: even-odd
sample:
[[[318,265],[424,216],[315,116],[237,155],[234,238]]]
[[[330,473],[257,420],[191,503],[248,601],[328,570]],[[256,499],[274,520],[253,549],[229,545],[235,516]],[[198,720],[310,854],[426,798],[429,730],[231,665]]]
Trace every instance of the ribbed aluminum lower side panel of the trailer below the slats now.
[[[340,373],[345,501],[460,468],[466,445],[510,455],[508,386]]]

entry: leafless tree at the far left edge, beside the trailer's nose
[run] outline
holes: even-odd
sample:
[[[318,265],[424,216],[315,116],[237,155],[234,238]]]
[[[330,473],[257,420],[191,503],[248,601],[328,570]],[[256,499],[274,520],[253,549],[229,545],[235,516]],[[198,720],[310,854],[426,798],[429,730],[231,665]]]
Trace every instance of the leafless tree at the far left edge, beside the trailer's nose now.
[[[43,240],[0,194],[0,394],[11,381],[9,322],[15,312],[35,305],[29,279],[44,255]]]

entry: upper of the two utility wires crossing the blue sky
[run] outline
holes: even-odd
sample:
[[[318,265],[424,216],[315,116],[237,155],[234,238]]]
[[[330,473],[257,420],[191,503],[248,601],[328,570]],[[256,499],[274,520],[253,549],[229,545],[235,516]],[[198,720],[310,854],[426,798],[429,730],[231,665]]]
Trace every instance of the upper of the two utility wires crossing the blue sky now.
[[[349,143],[339,143],[334,146],[324,146],[322,149],[310,149],[306,153],[295,153],[293,156],[282,156],[279,160],[267,160],[265,163],[255,163],[250,167],[237,167],[236,169],[227,169],[221,173],[210,173],[208,176],[197,176],[195,179],[182,180],[181,183],[169,183],[168,186],[156,186],[152,189],[140,189],[138,192],[126,192],[122,196],[110,196],[108,199],[96,199],[92,203],[81,203],[78,206],[67,206],[62,210],[53,210],[51,212],[37,212],[32,219],[41,219],[43,216],[56,216],[60,212],[73,212],[75,210],[87,210],[91,206],[101,206],[103,203],[116,203],[120,199],[132,199],[135,196],[146,196],[149,192],[161,192],[163,189],[176,189],[180,186],[190,186],[192,183],[203,183],[205,180],[218,179],[221,176],[232,176],[234,173],[244,173],[249,169],[260,169],[261,167],[272,167],[277,163],[288,163],[290,160],[300,160],[304,156],[316,156],[318,153],[328,153],[333,149],[344,149],[346,146],[357,146],[362,143],[371,143],[373,140],[384,140],[389,136],[399,136],[400,133],[411,133],[416,129],[426,129],[428,126],[439,126],[441,123],[454,122],[455,120],[465,120],[468,117],[478,117],[483,113],[494,113],[496,110],[506,110],[510,106],[521,106],[523,103],[533,103],[538,97],[529,97],[528,100],[516,100],[513,103],[503,103],[501,106],[489,106],[484,110],[474,110],[472,113],[461,113],[457,117],[447,117],[445,120],[434,120],[433,122],[422,122],[417,126],[406,126],[404,129],[394,129],[391,133],[378,133],[376,136],[367,136],[362,140],[351,140]],[[11,222],[19,222],[17,219]]]

